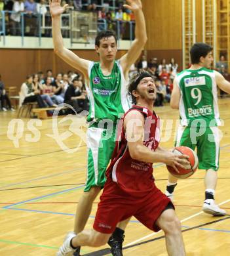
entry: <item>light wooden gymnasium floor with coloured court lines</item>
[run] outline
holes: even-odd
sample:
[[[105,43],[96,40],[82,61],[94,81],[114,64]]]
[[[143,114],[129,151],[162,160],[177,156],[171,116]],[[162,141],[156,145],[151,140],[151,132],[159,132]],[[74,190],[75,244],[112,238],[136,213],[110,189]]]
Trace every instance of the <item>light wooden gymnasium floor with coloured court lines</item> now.
[[[174,203],[182,221],[187,256],[230,253],[230,98],[221,99],[219,103],[225,125],[221,127],[223,139],[216,202],[227,211],[227,215],[212,217],[202,213],[204,171],[198,170],[193,177],[178,183]],[[161,119],[174,120],[172,125],[163,122],[161,142],[161,146],[172,148],[177,111],[169,106],[156,108],[155,111]],[[86,128],[83,127],[81,137],[74,131],[77,125],[85,125],[85,121],[77,118],[71,125],[71,119],[57,120],[58,131],[63,133],[63,139],[66,138],[61,147],[61,141],[48,136],[52,135],[55,127],[52,119],[37,120],[35,125],[28,123],[29,119],[23,118],[23,122],[19,123],[12,121],[14,118],[14,113],[0,112],[0,255],[55,255],[66,232],[73,228],[76,203],[83,192]],[[14,131],[8,129],[10,120]],[[37,131],[32,129],[32,125]],[[68,129],[73,133],[66,133]],[[167,138],[169,140],[165,141]],[[64,147],[69,149],[69,153],[62,149]],[[77,151],[71,153],[76,147]],[[166,168],[161,163],[154,166],[156,184],[164,191]],[[97,203],[98,199],[87,228],[92,226]],[[109,255],[109,250],[106,245],[84,247],[82,254]],[[163,232],[154,234],[132,219],[126,228],[124,255],[166,255]]]

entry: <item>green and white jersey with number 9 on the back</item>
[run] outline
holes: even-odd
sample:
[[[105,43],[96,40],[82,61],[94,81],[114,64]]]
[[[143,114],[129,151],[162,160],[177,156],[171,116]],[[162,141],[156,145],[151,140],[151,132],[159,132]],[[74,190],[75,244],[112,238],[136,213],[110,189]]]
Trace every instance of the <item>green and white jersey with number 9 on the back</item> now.
[[[176,76],[180,87],[180,121],[183,126],[220,125],[218,93],[213,70],[183,70]]]

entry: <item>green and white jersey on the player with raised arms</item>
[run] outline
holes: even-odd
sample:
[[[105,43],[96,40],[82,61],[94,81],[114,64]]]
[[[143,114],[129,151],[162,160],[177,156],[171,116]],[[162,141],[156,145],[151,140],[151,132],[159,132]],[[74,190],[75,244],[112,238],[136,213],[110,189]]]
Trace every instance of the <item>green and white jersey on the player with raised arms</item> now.
[[[87,121],[111,119],[116,121],[129,108],[127,81],[119,61],[115,61],[110,75],[104,75],[100,62],[91,62],[88,68],[87,87],[90,110]]]

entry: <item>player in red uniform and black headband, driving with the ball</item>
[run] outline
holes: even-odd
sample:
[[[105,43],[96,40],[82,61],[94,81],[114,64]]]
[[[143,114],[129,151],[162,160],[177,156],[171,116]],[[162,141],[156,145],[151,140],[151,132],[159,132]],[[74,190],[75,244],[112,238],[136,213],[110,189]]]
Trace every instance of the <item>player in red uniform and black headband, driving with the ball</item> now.
[[[155,186],[152,163],[166,163],[178,170],[188,157],[159,147],[153,77],[147,72],[136,75],[130,81],[128,93],[135,105],[123,117],[93,229],[69,236],[62,249],[104,245],[119,221],[134,216],[147,228],[164,231],[168,255],[185,255],[180,221],[172,202]]]

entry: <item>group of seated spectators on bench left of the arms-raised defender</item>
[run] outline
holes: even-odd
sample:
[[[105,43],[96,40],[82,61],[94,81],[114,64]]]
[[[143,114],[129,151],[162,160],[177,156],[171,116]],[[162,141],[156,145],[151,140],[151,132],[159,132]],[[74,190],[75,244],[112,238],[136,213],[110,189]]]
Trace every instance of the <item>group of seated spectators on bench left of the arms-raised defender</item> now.
[[[46,77],[43,72],[28,75],[22,83],[20,90],[20,106],[28,102],[37,102],[39,108],[56,107],[67,103],[77,113],[88,110],[83,78],[79,74],[57,74],[52,77],[52,70],[47,70]]]

